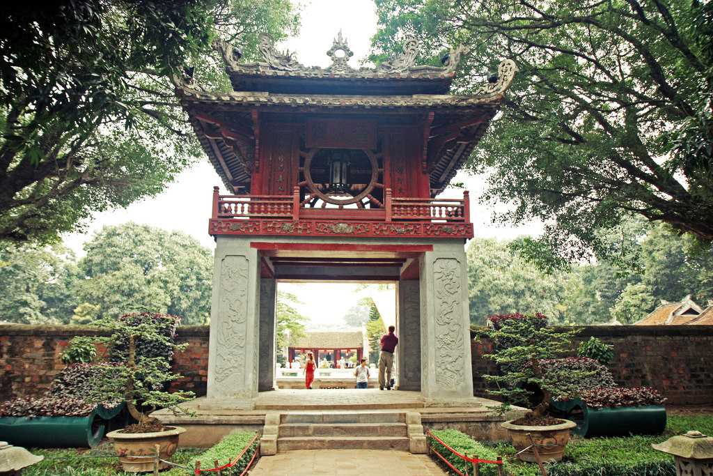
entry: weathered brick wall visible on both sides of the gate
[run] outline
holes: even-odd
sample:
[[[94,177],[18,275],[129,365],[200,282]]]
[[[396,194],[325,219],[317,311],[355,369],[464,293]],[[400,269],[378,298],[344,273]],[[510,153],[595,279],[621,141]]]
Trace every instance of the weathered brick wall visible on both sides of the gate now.
[[[99,334],[81,327],[0,325],[0,400],[43,393],[63,368],[68,341]],[[577,341],[593,335],[614,345],[610,367],[621,385],[650,385],[672,404],[713,404],[713,326],[595,326],[581,328]],[[172,388],[205,395],[208,328],[179,328],[178,342],[188,348],[174,358],[173,370],[184,377]],[[482,358],[488,342],[473,340],[472,350],[474,393],[487,396],[481,375],[495,370]]]

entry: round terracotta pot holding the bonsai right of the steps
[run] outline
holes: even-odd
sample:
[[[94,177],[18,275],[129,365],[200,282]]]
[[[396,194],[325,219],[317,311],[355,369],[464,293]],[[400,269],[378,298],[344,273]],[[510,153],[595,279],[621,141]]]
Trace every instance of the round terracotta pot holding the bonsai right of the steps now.
[[[559,420],[561,422],[559,425],[550,426],[513,425],[515,420],[509,420],[502,423],[501,426],[508,430],[508,435],[513,440],[513,446],[518,452],[534,442],[535,445],[538,445],[537,449],[543,462],[559,461],[565,454],[565,446],[570,440],[570,432],[577,426],[570,420]],[[528,433],[532,437],[532,442],[530,442]],[[518,458],[523,461],[537,462],[532,448],[520,453]]]

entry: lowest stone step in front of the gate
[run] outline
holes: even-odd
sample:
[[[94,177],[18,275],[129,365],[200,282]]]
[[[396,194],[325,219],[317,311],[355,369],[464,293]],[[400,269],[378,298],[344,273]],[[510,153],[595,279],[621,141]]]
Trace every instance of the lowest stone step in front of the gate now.
[[[409,451],[408,437],[309,436],[279,437],[277,451],[292,450],[400,450]]]

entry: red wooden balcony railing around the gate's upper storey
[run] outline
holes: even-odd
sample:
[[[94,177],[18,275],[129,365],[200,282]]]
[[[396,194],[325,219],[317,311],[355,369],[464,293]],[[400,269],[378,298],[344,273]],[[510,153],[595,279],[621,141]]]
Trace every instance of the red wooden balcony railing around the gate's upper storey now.
[[[468,191],[462,199],[394,198],[386,188],[384,208],[304,208],[299,188],[289,195],[220,195],[213,188],[212,218],[317,218],[319,220],[428,221],[470,223]]]

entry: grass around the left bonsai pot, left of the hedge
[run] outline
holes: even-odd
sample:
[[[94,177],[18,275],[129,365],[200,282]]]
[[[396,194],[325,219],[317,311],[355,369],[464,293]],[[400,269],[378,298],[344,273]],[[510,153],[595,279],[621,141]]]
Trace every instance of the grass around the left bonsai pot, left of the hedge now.
[[[135,476],[133,472],[123,472],[114,445],[103,442],[93,450],[75,448],[32,448],[35,455],[45,459],[28,467],[23,476]],[[178,448],[170,461],[187,465],[195,455],[204,451],[202,448]],[[164,474],[163,472],[161,474]],[[186,473],[181,473],[186,474]]]

